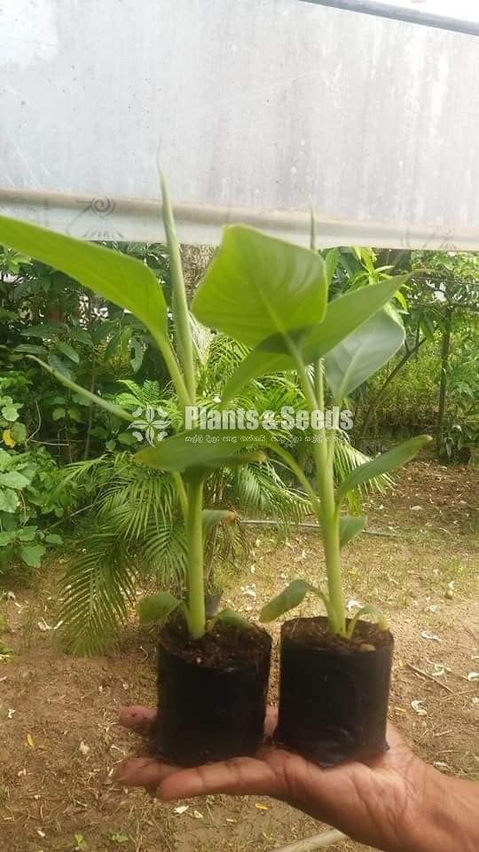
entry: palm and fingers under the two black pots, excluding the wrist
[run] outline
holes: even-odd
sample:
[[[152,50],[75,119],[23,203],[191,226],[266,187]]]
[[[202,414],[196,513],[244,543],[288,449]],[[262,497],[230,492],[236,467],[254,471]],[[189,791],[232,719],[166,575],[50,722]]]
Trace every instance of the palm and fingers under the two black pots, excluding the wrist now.
[[[122,724],[142,731],[154,712],[130,707]],[[276,726],[276,711],[266,719],[266,734]],[[163,801],[209,793],[265,795],[286,801],[349,837],[376,848],[401,848],[422,787],[424,764],[389,730],[389,752],[366,765],[358,761],[319,769],[298,754],[264,746],[254,758],[240,757],[195,769],[179,769],[154,758],[125,761],[122,783],[144,786]]]

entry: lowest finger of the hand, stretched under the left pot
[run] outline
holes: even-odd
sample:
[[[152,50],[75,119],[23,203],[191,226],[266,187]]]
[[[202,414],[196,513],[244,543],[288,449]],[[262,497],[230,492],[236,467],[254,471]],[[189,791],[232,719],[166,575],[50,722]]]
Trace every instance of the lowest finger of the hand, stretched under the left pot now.
[[[162,779],[158,796],[163,801],[189,799],[210,793],[278,796],[279,778],[268,763],[253,757],[235,757],[194,769],[180,769]]]

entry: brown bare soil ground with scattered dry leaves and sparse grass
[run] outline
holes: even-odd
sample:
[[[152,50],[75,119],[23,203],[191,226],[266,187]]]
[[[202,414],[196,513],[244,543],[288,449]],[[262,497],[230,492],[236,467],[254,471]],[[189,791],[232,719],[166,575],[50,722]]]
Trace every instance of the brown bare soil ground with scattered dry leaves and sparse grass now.
[[[395,493],[368,507],[370,531],[387,534],[363,535],[345,560],[348,600],[381,604],[396,636],[391,719],[439,769],[475,778],[478,681],[468,675],[479,669],[478,479],[467,468],[409,465]],[[318,564],[313,531],[278,548],[269,529],[252,530],[250,559],[226,597],[255,617],[287,580],[317,581]],[[14,651],[0,657],[4,852],[271,852],[320,830],[268,799],[212,796],[185,802],[180,815],[115,784],[115,765],[137,746],[120,728],[119,710],[154,700],[154,634],[132,622],[114,654],[67,657],[45,629],[55,623],[54,572],[38,588],[13,591],[0,605],[0,640]],[[311,613],[306,602],[301,614]],[[272,701],[276,694],[275,671]]]

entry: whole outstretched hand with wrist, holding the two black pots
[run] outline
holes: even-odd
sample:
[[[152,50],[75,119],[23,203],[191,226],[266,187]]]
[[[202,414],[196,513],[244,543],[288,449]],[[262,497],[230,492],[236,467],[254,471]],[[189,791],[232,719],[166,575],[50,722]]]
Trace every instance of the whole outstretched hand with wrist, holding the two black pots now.
[[[120,721],[147,735],[154,718],[155,711],[133,706],[122,711]],[[276,719],[277,711],[270,708],[267,738]],[[139,757],[124,761],[118,777],[161,801],[211,793],[271,796],[385,852],[477,852],[478,786],[444,777],[413,754],[392,727],[388,738],[389,752],[375,761],[350,761],[334,769],[319,769],[298,754],[263,746],[255,758],[195,769]]]

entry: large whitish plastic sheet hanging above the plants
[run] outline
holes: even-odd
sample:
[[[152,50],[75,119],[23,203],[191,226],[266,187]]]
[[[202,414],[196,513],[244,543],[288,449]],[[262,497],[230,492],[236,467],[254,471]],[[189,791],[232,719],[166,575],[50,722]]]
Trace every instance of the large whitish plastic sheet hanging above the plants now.
[[[90,240],[247,222],[479,248],[479,40],[301,0],[2,0],[0,211]]]

